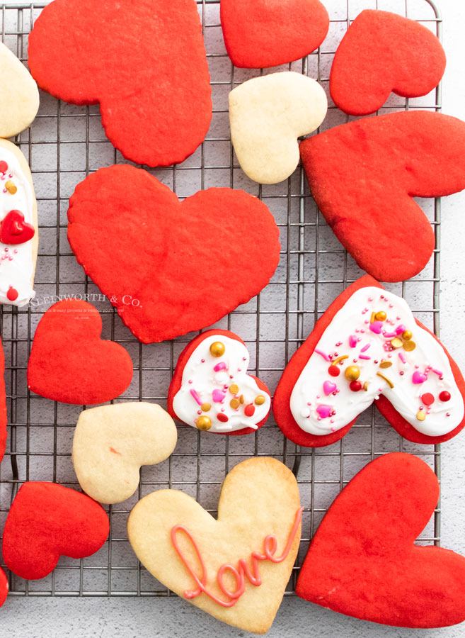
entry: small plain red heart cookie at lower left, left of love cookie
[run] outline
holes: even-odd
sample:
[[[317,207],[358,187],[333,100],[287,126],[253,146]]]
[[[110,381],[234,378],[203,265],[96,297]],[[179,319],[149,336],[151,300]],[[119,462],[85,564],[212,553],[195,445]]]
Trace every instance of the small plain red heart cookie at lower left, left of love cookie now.
[[[56,483],[24,483],[6,517],[3,553],[16,576],[44,578],[59,556],[91,556],[108,537],[101,505]]]

